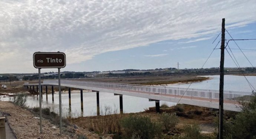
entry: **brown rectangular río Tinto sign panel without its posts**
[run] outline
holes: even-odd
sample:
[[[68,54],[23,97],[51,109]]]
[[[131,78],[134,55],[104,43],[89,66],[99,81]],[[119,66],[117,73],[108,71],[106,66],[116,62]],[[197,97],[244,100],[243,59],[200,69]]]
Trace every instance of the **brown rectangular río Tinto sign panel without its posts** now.
[[[34,67],[63,68],[66,66],[66,54],[62,52],[36,52],[33,54]]]

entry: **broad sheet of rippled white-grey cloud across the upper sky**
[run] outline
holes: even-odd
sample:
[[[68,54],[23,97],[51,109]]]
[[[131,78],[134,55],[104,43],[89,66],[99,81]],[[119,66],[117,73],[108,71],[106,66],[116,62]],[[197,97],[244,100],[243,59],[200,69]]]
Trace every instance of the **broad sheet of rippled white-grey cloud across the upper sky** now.
[[[68,65],[164,40],[206,39],[220,32],[223,17],[227,29],[256,21],[255,0],[2,0],[0,5],[2,72],[16,72],[9,63],[17,59],[20,70],[35,71],[32,55],[38,51],[65,52]]]

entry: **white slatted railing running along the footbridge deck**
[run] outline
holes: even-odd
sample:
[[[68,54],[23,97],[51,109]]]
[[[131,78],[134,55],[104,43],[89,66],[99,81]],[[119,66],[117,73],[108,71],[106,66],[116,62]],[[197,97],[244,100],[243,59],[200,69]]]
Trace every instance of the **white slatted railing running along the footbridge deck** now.
[[[44,84],[58,84],[58,80],[45,80]],[[104,82],[86,82],[76,80],[61,80],[62,85],[75,85],[96,87],[112,90],[123,90],[138,93],[148,93],[152,95],[166,95],[173,97],[181,97],[187,99],[205,100],[210,102],[219,101],[219,90],[212,89],[192,89],[169,86],[146,86],[146,85],[132,85],[121,83],[104,83]],[[230,91],[224,90],[224,103],[239,104],[241,101],[249,101],[254,95],[252,92]]]

